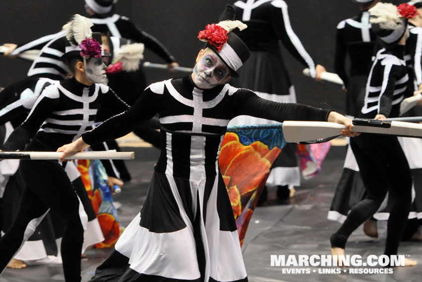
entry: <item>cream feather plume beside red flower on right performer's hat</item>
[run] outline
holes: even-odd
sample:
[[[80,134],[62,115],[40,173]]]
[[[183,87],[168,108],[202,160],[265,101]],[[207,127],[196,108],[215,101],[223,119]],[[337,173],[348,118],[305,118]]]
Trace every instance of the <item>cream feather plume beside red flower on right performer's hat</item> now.
[[[402,16],[397,11],[397,7],[391,3],[378,2],[369,9],[371,23],[377,23],[382,29],[395,30],[404,24]]]

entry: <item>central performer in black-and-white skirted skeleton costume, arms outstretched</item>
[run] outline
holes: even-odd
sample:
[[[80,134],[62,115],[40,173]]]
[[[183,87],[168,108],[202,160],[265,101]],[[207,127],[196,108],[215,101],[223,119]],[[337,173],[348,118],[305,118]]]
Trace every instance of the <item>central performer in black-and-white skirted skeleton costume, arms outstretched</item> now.
[[[117,281],[121,272],[120,282],[247,281],[217,160],[230,119],[248,114],[279,122],[328,118],[350,125],[339,113],[265,100],[227,84],[249,57],[244,43],[231,32],[244,28],[234,18],[228,5],[218,24],[199,33],[207,43],[192,74],[151,84],[128,111],[58,149],[64,151],[62,158],[124,135],[156,113],[160,117],[163,149],[145,204],[92,281]],[[348,130],[343,134],[354,135]]]

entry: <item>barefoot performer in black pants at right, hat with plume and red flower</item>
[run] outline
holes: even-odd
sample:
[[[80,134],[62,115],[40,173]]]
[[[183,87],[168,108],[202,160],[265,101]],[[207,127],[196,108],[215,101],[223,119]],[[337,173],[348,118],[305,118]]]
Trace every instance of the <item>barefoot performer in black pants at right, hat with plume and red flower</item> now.
[[[378,51],[372,64],[358,117],[384,120],[387,116],[399,115],[400,102],[406,92],[406,16],[413,17],[417,11],[412,5],[396,7],[377,3],[369,12],[371,29],[383,49]],[[350,143],[367,196],[352,208],[343,225],[331,236],[332,254],[344,255],[350,234],[377,211],[388,191],[393,204],[384,254],[396,255],[411,204],[412,174],[406,156],[395,136],[361,134]],[[416,261],[406,258],[405,265],[416,265]]]

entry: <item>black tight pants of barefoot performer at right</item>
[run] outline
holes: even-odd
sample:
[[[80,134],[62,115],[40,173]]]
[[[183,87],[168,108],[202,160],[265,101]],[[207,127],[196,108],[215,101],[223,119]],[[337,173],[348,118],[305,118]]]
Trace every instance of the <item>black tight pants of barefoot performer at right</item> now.
[[[395,255],[406,226],[412,199],[412,174],[397,137],[361,134],[350,139],[367,196],[356,204],[340,229],[331,236],[331,246],[345,248],[350,234],[368,220],[389,192],[393,201],[387,224],[384,254]]]

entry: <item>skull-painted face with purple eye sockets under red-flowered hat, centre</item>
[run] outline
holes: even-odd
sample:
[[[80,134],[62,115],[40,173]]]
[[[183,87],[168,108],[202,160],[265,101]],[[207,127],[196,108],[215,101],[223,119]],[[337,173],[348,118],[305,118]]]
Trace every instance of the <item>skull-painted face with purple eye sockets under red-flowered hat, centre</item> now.
[[[198,88],[211,89],[225,81],[230,70],[211,49],[206,49],[195,64],[192,80]]]

